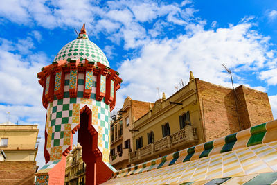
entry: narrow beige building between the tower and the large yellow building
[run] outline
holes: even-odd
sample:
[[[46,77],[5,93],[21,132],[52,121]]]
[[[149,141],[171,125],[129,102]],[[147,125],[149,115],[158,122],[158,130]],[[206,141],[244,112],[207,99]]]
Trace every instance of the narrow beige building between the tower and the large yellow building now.
[[[125,98],[124,105],[111,117],[111,153],[109,162],[116,170],[127,168],[129,152],[134,150],[132,143],[132,125],[149,110],[153,103]],[[131,130],[131,132],[130,132]]]

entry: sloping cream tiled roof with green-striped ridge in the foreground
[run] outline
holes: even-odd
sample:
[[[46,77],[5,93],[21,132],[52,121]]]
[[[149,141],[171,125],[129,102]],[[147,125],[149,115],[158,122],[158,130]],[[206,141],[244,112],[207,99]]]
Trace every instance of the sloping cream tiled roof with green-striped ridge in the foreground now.
[[[103,184],[274,184],[276,134],[277,120],[262,123],[125,168]]]

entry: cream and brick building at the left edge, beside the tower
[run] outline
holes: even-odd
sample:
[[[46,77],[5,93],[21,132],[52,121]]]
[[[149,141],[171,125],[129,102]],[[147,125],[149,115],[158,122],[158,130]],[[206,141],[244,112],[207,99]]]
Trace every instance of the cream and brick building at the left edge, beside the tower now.
[[[0,124],[0,184],[34,184],[38,133],[37,125]]]

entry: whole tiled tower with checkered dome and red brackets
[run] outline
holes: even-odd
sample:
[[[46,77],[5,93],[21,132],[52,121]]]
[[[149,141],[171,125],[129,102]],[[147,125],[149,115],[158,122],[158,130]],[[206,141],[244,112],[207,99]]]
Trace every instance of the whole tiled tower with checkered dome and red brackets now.
[[[109,164],[110,111],[116,104],[121,78],[105,54],[89,40],[84,25],[77,39],[37,73],[47,109],[44,157],[36,184],[64,184],[66,155],[73,134],[83,148],[87,184],[105,182],[115,170]]]

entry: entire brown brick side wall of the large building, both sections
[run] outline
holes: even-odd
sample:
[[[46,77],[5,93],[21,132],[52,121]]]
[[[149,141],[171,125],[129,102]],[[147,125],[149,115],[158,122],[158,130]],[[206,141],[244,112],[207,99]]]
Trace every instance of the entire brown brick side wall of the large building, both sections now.
[[[273,120],[266,93],[240,85],[231,88],[195,79],[206,141]],[[237,97],[238,114],[235,107]],[[240,125],[238,121],[240,118]]]

